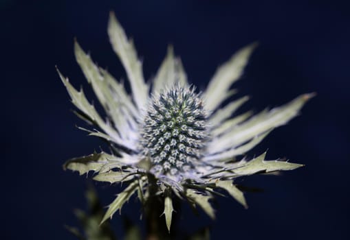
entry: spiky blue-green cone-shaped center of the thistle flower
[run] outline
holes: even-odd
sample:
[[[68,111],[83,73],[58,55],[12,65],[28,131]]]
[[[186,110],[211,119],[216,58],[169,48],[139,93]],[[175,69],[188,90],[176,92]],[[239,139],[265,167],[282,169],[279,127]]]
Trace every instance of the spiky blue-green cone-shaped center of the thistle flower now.
[[[153,97],[141,131],[142,153],[155,173],[188,171],[208,139],[206,111],[194,89],[173,86]]]

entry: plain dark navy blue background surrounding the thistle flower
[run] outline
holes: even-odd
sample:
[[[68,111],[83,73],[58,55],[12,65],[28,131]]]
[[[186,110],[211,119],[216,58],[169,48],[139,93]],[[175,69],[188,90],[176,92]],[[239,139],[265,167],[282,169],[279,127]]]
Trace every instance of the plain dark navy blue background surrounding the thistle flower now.
[[[300,117],[268,136],[250,156],[286,156],[306,167],[242,183],[265,189],[246,194],[244,210],[217,201],[217,220],[183,213],[187,230],[205,224],[213,239],[349,239],[350,8],[347,1],[0,1],[1,239],[74,239],[87,178],[65,172],[67,158],[102,145],[74,125],[72,104],[54,69],[83,85],[73,39],[120,79],[124,71],[107,38],[114,10],[144,60],[157,71],[168,43],[182,57],[190,82],[203,89],[234,51],[260,45],[237,84],[252,99],[246,109],[278,106],[317,92]],[[102,145],[103,147],[103,145]],[[96,184],[103,204],[118,187]],[[138,219],[133,200],[123,214]],[[112,221],[121,229],[120,216]],[[203,219],[203,221],[202,221]],[[234,236],[234,237],[233,237]]]

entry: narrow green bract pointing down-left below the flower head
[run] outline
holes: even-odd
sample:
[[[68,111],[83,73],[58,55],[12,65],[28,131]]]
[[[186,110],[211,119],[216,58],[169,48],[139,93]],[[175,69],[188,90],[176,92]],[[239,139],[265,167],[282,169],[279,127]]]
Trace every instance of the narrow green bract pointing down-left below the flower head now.
[[[121,193],[118,194],[116,197],[116,200],[114,200],[111,204],[109,204],[108,210],[105,213],[105,216],[103,217],[101,224],[106,221],[107,219],[111,218],[116,211],[122,208],[125,202],[129,200],[131,195],[135,193],[135,191],[138,189],[139,180],[135,180],[134,182],[131,182],[129,186],[124,189]]]

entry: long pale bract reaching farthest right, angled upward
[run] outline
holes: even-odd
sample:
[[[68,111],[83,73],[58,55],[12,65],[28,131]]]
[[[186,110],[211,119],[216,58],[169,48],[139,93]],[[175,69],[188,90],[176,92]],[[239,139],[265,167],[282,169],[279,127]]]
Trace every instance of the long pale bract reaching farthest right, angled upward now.
[[[284,125],[290,119],[296,117],[300,108],[313,96],[313,94],[300,95],[284,106],[261,112],[209,143],[208,152],[212,154],[237,147],[250,141],[254,136],[259,136],[266,131]]]

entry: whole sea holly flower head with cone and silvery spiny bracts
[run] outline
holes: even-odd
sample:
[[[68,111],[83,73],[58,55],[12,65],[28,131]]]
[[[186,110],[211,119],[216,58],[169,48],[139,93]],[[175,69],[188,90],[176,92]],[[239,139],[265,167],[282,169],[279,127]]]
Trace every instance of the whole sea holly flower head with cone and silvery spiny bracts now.
[[[237,160],[237,156],[260,143],[274,128],[296,117],[311,97],[301,95],[284,106],[263,110],[255,116],[246,112],[232,117],[248,97],[222,105],[234,95],[230,87],[241,77],[254,44],[239,50],[221,65],[206,91],[197,93],[188,83],[182,62],[174,57],[171,47],[153,81],[147,84],[133,43],[113,14],[108,34],[127,73],[131,95],[121,82],[94,64],[78,43],[74,45],[76,60],[105,109],[106,119],[100,117],[82,90],[77,91],[59,73],[78,108],[76,114],[99,129],[87,130],[89,135],[104,139],[111,147],[110,154],[100,152],[74,158],[65,163],[65,168],[79,171],[80,175],[94,171],[94,180],[124,182],[123,186],[127,186],[109,205],[102,222],[134,194],[142,204],[151,194],[162,197],[169,230],[173,197],[200,206],[214,218],[209,200],[218,189],[224,189],[247,206],[243,193],[233,184],[236,178],[303,166],[284,160],[265,160],[265,153],[251,160]],[[150,184],[157,186],[157,191],[149,191]]]

